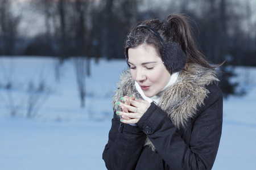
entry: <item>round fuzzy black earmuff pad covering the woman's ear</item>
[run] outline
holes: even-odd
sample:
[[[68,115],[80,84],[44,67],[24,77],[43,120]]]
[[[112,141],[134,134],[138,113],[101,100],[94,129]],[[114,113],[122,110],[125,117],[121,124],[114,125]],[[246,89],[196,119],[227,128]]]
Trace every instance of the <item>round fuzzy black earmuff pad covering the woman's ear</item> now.
[[[181,71],[186,64],[186,56],[176,42],[167,42],[161,52],[164,65],[172,73]]]

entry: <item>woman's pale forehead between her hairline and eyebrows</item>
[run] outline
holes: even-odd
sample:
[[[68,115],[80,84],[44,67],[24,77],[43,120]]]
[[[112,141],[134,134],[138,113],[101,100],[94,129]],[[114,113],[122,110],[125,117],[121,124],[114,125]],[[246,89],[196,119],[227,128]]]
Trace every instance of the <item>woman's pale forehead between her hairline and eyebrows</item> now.
[[[161,60],[156,48],[153,45],[142,44],[136,48],[128,49],[128,61],[158,61]]]

